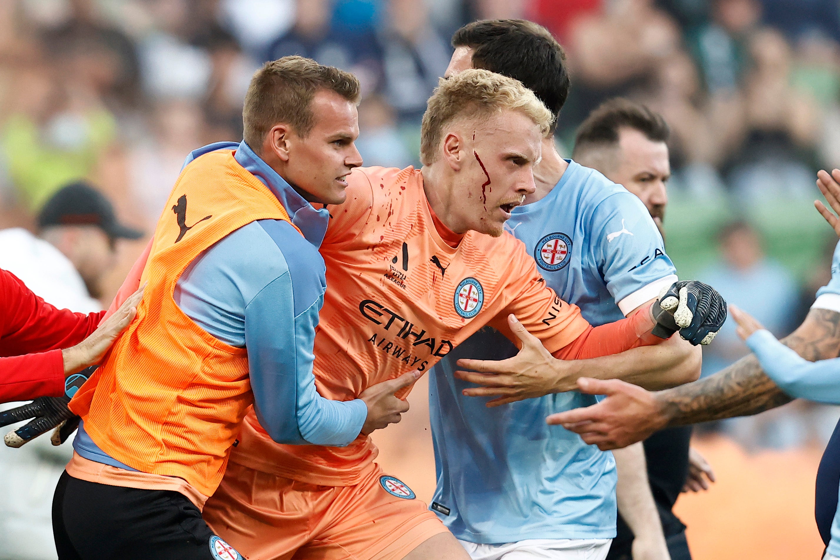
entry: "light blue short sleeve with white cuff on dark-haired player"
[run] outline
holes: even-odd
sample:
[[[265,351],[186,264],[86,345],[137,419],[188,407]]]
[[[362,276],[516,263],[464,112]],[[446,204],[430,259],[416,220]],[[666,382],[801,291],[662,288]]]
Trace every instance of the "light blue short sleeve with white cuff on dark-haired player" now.
[[[606,289],[625,315],[677,280],[659,229],[638,196],[626,191],[607,196],[591,225]]]

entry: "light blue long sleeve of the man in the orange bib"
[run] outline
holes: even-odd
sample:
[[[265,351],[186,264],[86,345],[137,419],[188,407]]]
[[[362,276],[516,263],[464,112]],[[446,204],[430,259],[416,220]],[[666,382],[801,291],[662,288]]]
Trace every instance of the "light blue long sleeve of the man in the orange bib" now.
[[[323,398],[312,351],[326,289],[318,250],[287,222],[261,220],[223,238],[181,275],[175,299],[214,337],[248,349],[260,424],[276,442],[343,446],[364,401]]]

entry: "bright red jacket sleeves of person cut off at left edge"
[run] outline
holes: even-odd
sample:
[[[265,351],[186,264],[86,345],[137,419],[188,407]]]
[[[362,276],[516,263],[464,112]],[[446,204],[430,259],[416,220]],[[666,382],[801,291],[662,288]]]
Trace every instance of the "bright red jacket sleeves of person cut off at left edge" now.
[[[105,311],[56,309],[6,270],[0,270],[0,296],[0,402],[62,395],[60,348],[87,338]]]

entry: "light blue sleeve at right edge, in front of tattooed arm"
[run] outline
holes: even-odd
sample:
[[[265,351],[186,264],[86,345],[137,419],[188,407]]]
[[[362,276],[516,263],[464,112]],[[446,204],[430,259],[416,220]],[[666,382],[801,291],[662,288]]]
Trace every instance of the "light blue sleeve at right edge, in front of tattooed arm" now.
[[[753,332],[747,346],[764,373],[787,395],[840,405],[840,358],[809,362],[765,329]]]

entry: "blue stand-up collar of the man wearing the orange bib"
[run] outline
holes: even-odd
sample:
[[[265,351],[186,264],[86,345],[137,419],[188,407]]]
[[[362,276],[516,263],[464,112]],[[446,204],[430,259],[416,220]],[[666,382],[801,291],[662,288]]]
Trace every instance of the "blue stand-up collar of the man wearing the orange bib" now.
[[[236,154],[234,154],[234,158],[239,165],[242,165],[245,170],[269,188],[274,196],[277,197],[277,200],[286,208],[291,222],[301,230],[303,237],[309,243],[312,243],[315,247],[321,246],[323,236],[327,233],[327,226],[329,224],[328,210],[326,208],[317,210],[315,207],[312,207],[312,204],[297,194],[297,191],[291,188],[291,185],[285,179],[275,170],[271,169],[259,155],[255,154],[254,150],[250,149],[244,140],[239,144],[236,142],[207,144],[207,146],[193,150],[191,154],[186,156],[184,165],[186,166],[200,155],[216,151],[217,149],[235,149]]]

